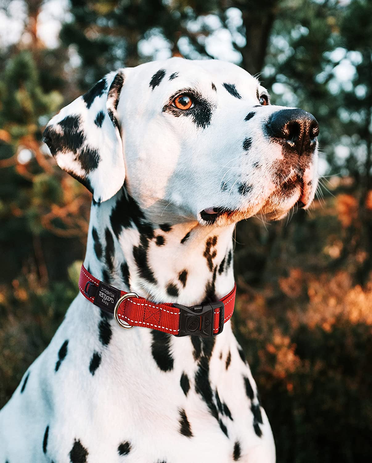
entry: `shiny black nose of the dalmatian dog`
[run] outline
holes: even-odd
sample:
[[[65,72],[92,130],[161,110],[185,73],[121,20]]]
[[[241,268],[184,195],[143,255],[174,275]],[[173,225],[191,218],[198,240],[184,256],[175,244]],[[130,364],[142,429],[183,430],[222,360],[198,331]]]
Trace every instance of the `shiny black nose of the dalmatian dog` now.
[[[281,109],[270,116],[266,131],[269,137],[279,139],[300,155],[315,148],[319,125],[312,114],[302,109]]]

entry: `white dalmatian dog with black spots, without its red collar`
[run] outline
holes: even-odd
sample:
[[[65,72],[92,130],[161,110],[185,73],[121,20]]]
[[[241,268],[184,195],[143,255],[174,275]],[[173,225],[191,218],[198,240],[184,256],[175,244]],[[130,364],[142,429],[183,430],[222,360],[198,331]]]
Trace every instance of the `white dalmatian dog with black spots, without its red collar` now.
[[[239,220],[309,207],[318,130],[238,66],[171,58],[106,75],[44,140],[93,194],[85,269],[192,306],[232,290]],[[123,330],[78,294],[0,413],[0,462],[274,462],[231,325],[210,338]]]

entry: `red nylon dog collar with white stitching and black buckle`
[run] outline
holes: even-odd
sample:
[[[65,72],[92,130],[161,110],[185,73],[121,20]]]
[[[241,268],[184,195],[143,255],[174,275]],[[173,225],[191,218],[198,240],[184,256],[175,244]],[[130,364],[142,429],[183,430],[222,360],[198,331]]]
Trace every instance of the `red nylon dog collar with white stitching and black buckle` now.
[[[165,302],[154,304],[135,293],[126,293],[101,282],[84,265],[79,277],[81,294],[95,306],[113,313],[122,328],[145,326],[171,333],[174,336],[200,334],[202,337],[216,336],[224,328],[234,311],[236,284],[229,294],[218,302],[205,302],[186,307]]]

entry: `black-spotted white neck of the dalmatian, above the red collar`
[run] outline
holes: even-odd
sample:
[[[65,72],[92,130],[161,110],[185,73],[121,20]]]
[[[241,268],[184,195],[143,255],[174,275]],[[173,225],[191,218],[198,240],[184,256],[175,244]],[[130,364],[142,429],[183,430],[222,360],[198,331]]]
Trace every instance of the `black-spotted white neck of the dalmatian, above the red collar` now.
[[[102,281],[153,302],[219,300],[234,285],[233,228],[155,224],[123,187],[110,200],[92,203],[84,265]]]

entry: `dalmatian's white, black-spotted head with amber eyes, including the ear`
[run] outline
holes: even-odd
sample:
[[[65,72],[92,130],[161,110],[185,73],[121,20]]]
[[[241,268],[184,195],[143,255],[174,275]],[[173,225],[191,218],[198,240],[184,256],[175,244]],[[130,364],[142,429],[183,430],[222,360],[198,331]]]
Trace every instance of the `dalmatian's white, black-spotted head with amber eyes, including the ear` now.
[[[44,141],[96,202],[125,180],[154,222],[227,225],[309,207],[318,131],[234,64],[171,58],[106,75],[51,119]]]

